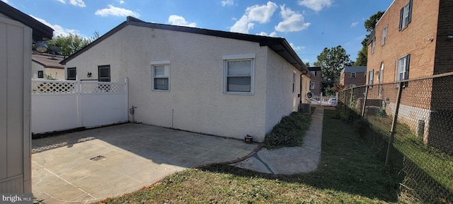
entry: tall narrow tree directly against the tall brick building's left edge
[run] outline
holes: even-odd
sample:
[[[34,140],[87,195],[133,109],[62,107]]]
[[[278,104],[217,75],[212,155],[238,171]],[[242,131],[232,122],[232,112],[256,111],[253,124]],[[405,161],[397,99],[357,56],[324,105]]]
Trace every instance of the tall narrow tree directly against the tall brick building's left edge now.
[[[367,32],[371,33],[374,28],[376,27],[377,21],[381,19],[384,12],[377,11],[372,16],[369,16],[368,20],[365,21],[365,29]],[[362,40],[362,50],[360,50],[357,54],[357,60],[354,62],[354,66],[367,66],[368,61],[368,45],[367,42],[369,40],[369,34],[365,36],[365,39]]]

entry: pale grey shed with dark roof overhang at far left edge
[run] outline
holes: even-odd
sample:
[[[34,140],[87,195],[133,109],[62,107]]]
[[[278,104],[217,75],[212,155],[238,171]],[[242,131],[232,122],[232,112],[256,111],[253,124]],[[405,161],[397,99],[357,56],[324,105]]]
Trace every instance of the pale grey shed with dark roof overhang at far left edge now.
[[[0,30],[0,193],[32,193],[32,43],[52,38],[53,30],[4,1]]]

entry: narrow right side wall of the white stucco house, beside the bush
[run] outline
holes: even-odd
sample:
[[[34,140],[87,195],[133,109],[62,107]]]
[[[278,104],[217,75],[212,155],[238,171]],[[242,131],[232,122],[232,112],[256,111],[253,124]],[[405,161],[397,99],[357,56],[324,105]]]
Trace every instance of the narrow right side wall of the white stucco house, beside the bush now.
[[[295,90],[292,92],[292,74],[296,74]],[[270,132],[283,116],[298,111],[300,94],[300,74],[294,66],[268,50],[268,75],[266,89],[265,131]],[[288,103],[289,102],[289,103]]]

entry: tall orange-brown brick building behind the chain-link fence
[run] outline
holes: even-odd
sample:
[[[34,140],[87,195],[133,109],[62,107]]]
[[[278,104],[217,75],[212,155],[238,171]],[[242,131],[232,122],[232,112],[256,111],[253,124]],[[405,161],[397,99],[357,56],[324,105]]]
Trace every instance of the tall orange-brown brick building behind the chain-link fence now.
[[[452,1],[395,0],[370,35],[367,84],[416,79],[453,72],[452,13]],[[420,103],[417,100],[402,100],[398,120],[424,121],[426,124],[423,135],[425,143],[452,151],[453,141],[445,140],[446,137],[451,136],[436,134],[428,128],[430,125],[442,126],[444,124],[443,128],[436,128],[449,130],[451,124],[435,118],[441,118],[437,117],[437,114],[451,115],[453,113],[452,108],[445,106],[446,103],[439,104],[441,102],[430,100],[436,94],[442,94],[443,86],[436,81],[434,84],[429,83],[431,84],[423,85],[423,87],[431,89],[432,95],[428,96],[428,101]],[[417,94],[420,87],[413,86],[411,83],[406,83],[403,89],[406,93],[412,91],[411,93]],[[396,96],[391,92],[395,92],[395,89],[379,87],[379,94],[376,98],[390,101],[389,106],[385,107],[393,110]],[[440,107],[443,109],[439,109]],[[391,112],[387,111],[387,113]]]

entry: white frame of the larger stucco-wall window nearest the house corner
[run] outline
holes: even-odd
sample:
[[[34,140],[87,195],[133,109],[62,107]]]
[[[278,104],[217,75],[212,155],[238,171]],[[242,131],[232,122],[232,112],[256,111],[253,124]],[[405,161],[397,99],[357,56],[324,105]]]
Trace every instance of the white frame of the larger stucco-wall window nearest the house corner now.
[[[222,60],[224,61],[224,94],[239,94],[239,95],[253,95],[255,91],[255,58],[256,54],[243,54],[243,55],[224,55]],[[228,87],[228,77],[238,77],[238,76],[228,76],[228,62],[241,62],[241,61],[250,61],[250,75],[240,76],[240,77],[250,77],[250,91],[227,91]]]

